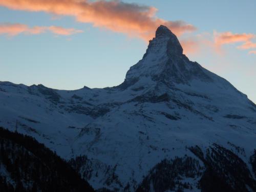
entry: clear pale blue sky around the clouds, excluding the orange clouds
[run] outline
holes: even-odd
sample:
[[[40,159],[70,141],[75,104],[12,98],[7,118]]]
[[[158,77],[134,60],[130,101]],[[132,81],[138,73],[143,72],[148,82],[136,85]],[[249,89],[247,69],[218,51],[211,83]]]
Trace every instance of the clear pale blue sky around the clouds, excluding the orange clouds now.
[[[1,81],[27,85],[41,83],[50,88],[66,90],[83,86],[116,86],[124,80],[126,71],[142,58],[147,47],[145,39],[126,33],[123,29],[113,30],[108,26],[104,27],[104,24],[95,27],[95,23],[84,20],[78,22],[75,16],[68,14],[31,11],[26,7],[17,10],[15,5],[11,7],[6,2],[15,1],[0,0]],[[195,26],[196,30],[182,32],[178,37],[181,40],[193,39],[198,44],[196,52],[186,52],[189,59],[226,78],[256,102],[256,54],[249,54],[249,51],[256,48],[238,49],[246,41],[232,41],[221,44],[218,48],[220,51],[216,50],[214,39],[214,31],[221,35],[225,32],[232,35],[255,35],[255,1],[129,0],[123,3],[125,9],[131,3],[151,6],[157,9],[154,18],[166,21],[182,20]],[[129,11],[133,11],[130,9],[137,7],[129,7]],[[113,19],[113,22],[116,20]],[[26,25],[29,31],[15,35],[1,33],[1,25],[7,24]],[[44,32],[32,34],[30,29],[34,26],[44,26]],[[72,34],[63,35],[49,26],[83,32],[74,31]],[[256,42],[254,37],[250,41]]]

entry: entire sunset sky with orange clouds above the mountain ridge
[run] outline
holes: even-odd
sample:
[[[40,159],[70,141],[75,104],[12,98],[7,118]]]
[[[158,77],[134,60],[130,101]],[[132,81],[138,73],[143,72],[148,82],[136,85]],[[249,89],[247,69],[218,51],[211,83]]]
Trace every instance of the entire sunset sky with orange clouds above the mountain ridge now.
[[[0,81],[112,87],[166,25],[256,103],[256,1],[0,0]]]

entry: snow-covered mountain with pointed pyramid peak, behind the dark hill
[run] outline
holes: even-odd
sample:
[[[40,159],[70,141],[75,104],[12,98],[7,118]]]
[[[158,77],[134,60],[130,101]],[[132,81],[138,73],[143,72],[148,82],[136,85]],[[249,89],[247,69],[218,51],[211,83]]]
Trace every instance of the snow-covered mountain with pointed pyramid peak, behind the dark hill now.
[[[119,86],[64,91],[0,82],[0,126],[73,158],[95,189],[211,191],[214,178],[223,191],[256,190],[256,105],[189,61],[165,26]],[[165,172],[174,166],[176,174]]]

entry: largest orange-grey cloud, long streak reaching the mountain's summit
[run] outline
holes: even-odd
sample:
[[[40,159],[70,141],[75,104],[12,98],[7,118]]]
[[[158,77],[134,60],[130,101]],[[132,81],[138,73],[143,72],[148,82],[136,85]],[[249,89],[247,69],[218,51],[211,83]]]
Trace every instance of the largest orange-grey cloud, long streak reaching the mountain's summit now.
[[[78,22],[92,23],[114,32],[149,40],[159,25],[165,25],[178,36],[196,28],[182,21],[167,21],[155,16],[154,7],[113,1],[88,0],[0,0],[0,6],[14,10],[44,11],[74,16]]]

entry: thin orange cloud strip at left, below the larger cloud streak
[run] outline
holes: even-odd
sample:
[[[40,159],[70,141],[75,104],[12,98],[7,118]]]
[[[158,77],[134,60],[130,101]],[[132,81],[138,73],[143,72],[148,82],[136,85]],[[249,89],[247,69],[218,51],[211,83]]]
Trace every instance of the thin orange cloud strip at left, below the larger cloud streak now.
[[[72,35],[74,33],[81,33],[81,30],[76,30],[73,28],[62,28],[62,27],[56,27],[56,26],[50,26],[50,27],[45,27],[45,26],[35,26],[32,28],[29,28],[27,25],[23,24],[0,24],[0,34],[7,34],[9,36],[15,36],[20,33],[24,34],[40,34],[40,33],[45,33],[47,31],[50,31],[54,34],[58,35]]]

